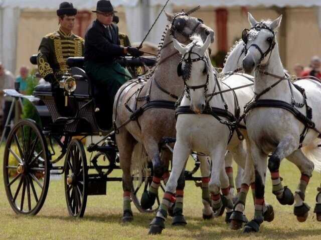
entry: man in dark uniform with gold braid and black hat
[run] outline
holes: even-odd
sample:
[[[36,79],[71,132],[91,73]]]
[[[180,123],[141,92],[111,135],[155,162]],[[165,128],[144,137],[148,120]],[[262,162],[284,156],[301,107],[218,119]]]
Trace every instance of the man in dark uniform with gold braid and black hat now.
[[[38,70],[53,88],[59,86],[59,80],[69,70],[67,58],[84,55],[84,39],[72,33],[76,14],[77,9],[71,2],[60,3],[57,10],[60,27],[44,36],[39,45]]]

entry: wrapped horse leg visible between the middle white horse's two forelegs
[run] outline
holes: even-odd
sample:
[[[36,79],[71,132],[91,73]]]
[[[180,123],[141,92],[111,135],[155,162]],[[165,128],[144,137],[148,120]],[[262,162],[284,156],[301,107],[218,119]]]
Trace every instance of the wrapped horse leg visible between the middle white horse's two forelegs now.
[[[211,207],[211,198],[210,198],[210,190],[209,190],[209,182],[210,182],[210,173],[211,173],[211,165],[207,156],[198,155],[198,158],[201,163],[201,175],[202,175],[202,202],[203,202],[203,219],[211,219],[213,218],[213,210]]]

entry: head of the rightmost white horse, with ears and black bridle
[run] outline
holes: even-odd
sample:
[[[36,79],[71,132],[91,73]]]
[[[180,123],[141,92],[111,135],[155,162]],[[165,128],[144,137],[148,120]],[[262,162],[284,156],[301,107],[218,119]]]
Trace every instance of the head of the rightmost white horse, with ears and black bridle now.
[[[248,13],[251,29],[244,29],[242,39],[245,43],[243,58],[243,68],[246,73],[250,73],[258,67],[268,64],[273,48],[276,45],[275,29],[280,25],[282,15],[273,21],[256,21],[251,13]]]

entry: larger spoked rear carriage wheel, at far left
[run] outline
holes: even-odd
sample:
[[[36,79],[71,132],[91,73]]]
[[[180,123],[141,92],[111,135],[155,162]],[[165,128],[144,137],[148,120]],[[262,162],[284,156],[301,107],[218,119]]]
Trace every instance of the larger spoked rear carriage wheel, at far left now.
[[[35,215],[49,186],[48,146],[34,120],[22,119],[10,131],[4,153],[4,183],[16,213]]]

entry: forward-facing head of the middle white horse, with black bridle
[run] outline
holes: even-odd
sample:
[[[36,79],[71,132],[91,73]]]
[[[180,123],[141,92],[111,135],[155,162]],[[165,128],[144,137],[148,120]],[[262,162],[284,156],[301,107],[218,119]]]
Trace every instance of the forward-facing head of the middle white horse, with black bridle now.
[[[178,74],[182,75],[186,96],[191,100],[191,109],[202,113],[206,107],[209,78],[213,75],[210,54],[207,51],[211,36],[208,35],[204,43],[199,35],[193,35],[191,39],[192,42],[188,45],[176,39],[173,39],[173,42],[183,55],[178,65]]]

